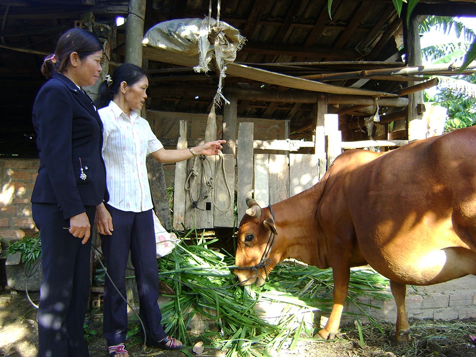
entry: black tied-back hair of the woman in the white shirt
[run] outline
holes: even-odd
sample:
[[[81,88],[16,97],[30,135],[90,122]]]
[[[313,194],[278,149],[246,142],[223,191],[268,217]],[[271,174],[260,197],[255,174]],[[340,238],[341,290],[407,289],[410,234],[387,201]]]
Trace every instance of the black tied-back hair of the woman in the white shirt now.
[[[114,70],[112,82],[109,80],[110,83],[108,84],[108,81],[105,80],[101,83],[94,104],[98,109],[107,107],[114,96],[119,93],[122,82],[127,83],[128,86],[133,86],[144,77],[147,77],[147,73],[143,68],[131,63],[121,64]]]

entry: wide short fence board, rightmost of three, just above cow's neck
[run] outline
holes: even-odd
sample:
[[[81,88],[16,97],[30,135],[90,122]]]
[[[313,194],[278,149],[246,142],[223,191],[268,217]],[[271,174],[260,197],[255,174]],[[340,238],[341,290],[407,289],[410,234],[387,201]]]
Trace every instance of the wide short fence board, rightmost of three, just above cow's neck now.
[[[317,155],[289,155],[289,194],[294,196],[319,181],[319,158]]]

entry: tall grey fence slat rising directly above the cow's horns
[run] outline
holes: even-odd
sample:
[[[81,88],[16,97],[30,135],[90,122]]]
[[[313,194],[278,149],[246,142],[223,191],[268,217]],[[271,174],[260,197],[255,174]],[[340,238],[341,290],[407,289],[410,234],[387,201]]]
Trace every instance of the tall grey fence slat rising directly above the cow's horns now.
[[[236,160],[238,165],[238,222],[245,214],[246,198],[251,197],[253,189],[253,123],[240,123]]]

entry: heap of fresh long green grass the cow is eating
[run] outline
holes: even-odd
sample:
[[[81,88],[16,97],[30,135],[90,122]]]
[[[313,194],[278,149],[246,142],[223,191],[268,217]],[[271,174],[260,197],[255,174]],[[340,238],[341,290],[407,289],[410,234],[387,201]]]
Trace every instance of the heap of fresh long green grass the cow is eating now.
[[[203,237],[196,244],[185,245],[182,241],[172,253],[158,259],[159,279],[175,292],[161,306],[165,332],[193,344],[196,337],[188,333],[187,326],[199,313],[217,327],[200,335],[204,347],[226,351],[228,356],[269,355],[271,349],[280,350],[284,345],[293,348],[298,339],[312,339],[316,331],[305,326],[300,313],[284,314],[271,323],[263,320],[254,307],[284,303],[299,307],[300,312],[330,311],[331,270],[278,264],[262,287],[242,288],[231,271],[234,257],[208,248],[215,241],[206,242]],[[387,280],[375,272],[352,271],[349,300],[352,304],[357,296],[388,299],[382,293],[386,284]]]

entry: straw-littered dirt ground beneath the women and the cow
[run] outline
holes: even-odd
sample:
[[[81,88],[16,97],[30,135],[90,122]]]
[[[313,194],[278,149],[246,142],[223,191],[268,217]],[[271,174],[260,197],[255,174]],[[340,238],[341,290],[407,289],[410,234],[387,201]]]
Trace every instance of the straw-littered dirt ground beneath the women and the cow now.
[[[38,293],[30,293],[33,303],[38,302]],[[102,337],[102,324],[94,315],[87,317],[87,337],[91,357],[107,356],[107,347]],[[344,326],[342,334],[334,341],[303,340],[293,350],[284,346],[280,351],[270,351],[273,356],[306,357],[393,357],[393,356],[468,356],[476,357],[476,344],[471,339],[476,335],[476,319],[468,320],[411,320],[413,341],[396,343],[393,339],[394,324],[378,322],[362,327],[361,345],[358,329]],[[380,330],[381,329],[381,330]],[[96,331],[97,333],[94,334]],[[474,337],[476,339],[476,337]],[[0,355],[11,357],[34,357],[38,343],[36,308],[25,292],[16,292],[8,287],[0,290]],[[193,355],[192,347],[186,348]],[[127,341],[131,356],[181,357],[181,351],[143,349],[138,337]],[[216,350],[205,350],[201,355],[224,356]],[[58,356],[59,357],[59,356]]]

